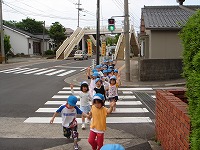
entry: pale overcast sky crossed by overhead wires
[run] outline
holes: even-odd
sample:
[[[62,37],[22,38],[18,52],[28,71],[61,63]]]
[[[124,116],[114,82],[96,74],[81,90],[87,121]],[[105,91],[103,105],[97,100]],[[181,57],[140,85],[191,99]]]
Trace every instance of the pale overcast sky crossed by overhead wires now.
[[[45,21],[46,26],[60,22],[67,28],[78,25],[78,0],[3,0],[3,20],[21,21],[27,17]],[[97,0],[80,0],[80,27],[96,26]],[[124,0],[100,0],[101,26],[107,26],[107,19],[124,15]],[[130,23],[139,30],[141,8],[153,5],[178,5],[176,0],[129,0]],[[200,5],[200,0],[185,0],[184,5]],[[122,17],[115,18],[121,26]]]

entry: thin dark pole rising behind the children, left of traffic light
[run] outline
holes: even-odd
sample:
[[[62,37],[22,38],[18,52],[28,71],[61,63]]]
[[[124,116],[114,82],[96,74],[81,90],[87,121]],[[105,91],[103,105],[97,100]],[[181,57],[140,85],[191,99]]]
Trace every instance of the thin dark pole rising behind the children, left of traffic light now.
[[[96,42],[97,42],[97,47],[96,47],[96,64],[99,65],[99,46],[100,46],[100,0],[97,0],[97,30],[96,30]]]

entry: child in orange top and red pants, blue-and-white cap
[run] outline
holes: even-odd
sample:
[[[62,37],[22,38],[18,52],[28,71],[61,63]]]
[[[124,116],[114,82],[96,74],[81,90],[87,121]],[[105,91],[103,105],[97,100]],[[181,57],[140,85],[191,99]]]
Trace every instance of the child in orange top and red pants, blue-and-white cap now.
[[[88,142],[93,150],[100,150],[104,142],[104,132],[106,131],[106,117],[113,110],[115,102],[110,104],[110,108],[104,106],[104,96],[95,94],[93,96],[93,105],[89,113],[91,120],[90,134]]]

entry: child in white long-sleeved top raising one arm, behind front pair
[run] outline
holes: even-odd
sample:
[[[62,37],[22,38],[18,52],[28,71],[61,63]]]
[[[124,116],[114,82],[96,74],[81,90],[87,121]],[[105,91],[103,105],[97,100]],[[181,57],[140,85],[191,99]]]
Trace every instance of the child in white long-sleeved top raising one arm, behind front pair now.
[[[81,109],[81,111],[83,111],[86,114],[89,114],[90,109],[91,109],[90,101],[92,100],[92,97],[90,96],[90,93],[89,93],[88,83],[86,81],[83,81],[81,83],[81,87],[80,87],[81,91],[79,91],[77,93],[74,92],[74,89],[73,89],[74,85],[72,83],[70,84],[70,87],[71,87],[72,95],[76,95],[77,94],[80,97],[80,109]],[[81,128],[83,130],[85,129],[85,117],[84,116],[82,116]]]

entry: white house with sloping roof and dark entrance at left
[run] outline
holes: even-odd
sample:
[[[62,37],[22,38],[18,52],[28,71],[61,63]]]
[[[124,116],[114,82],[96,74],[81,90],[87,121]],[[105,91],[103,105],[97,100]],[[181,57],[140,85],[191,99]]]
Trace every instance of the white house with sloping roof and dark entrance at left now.
[[[41,55],[53,49],[53,41],[48,35],[33,35],[26,31],[3,26],[4,34],[10,36],[11,51],[16,54]],[[43,41],[44,40],[44,41]]]

